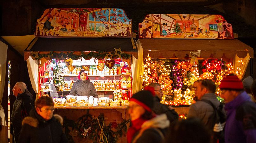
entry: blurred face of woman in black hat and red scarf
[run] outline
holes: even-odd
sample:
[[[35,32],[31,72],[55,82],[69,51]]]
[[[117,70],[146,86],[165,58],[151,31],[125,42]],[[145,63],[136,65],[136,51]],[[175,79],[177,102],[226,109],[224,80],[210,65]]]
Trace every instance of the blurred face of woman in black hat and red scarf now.
[[[130,114],[131,120],[138,119],[142,114],[145,113],[145,109],[134,101],[130,101],[128,113]]]

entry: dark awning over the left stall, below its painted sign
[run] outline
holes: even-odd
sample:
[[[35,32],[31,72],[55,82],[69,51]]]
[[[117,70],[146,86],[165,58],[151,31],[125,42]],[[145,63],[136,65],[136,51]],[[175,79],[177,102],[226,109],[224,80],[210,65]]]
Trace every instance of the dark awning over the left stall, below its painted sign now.
[[[25,49],[25,60],[29,52],[91,52],[91,51],[115,51],[121,48],[127,54],[137,54],[138,50],[134,38],[35,38]]]

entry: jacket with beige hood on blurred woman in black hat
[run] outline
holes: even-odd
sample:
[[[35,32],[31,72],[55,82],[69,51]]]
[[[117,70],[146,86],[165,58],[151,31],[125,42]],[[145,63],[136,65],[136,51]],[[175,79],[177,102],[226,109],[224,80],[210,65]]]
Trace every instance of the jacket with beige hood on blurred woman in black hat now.
[[[132,137],[132,143],[161,143],[170,126],[166,114],[158,115],[141,126],[141,129]]]

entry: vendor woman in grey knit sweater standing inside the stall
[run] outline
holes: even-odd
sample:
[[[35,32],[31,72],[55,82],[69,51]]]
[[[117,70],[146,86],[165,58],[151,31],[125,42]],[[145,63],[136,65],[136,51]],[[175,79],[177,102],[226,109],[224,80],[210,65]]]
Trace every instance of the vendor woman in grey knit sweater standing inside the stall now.
[[[98,98],[98,94],[92,82],[85,73],[85,70],[81,70],[78,75],[78,80],[74,82],[69,95],[76,96],[93,96],[94,98]]]

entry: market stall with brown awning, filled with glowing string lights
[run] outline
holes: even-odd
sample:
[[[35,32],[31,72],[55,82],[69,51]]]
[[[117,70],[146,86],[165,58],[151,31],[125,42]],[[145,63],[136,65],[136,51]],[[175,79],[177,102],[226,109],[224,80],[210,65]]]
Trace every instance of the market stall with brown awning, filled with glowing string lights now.
[[[241,79],[253,58],[253,48],[234,39],[232,25],[221,15],[149,14],[138,34],[139,85],[160,83],[162,103],[182,117],[194,102],[195,80],[212,79],[218,87],[230,73]],[[219,89],[216,94],[222,101]]]

